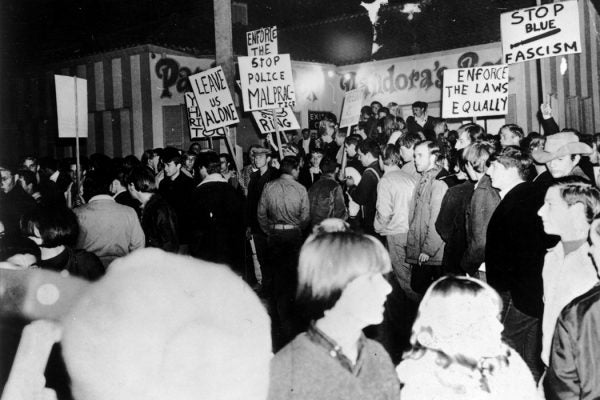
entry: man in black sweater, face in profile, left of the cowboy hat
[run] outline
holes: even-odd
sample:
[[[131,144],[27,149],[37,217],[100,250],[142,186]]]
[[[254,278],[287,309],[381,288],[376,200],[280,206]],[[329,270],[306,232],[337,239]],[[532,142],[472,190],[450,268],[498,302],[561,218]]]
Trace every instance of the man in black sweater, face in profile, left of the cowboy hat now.
[[[531,159],[521,148],[505,147],[492,160],[486,173],[502,200],[487,229],[487,280],[503,299],[505,339],[538,380],[542,373],[540,320],[546,237],[537,212],[543,200],[526,181]]]

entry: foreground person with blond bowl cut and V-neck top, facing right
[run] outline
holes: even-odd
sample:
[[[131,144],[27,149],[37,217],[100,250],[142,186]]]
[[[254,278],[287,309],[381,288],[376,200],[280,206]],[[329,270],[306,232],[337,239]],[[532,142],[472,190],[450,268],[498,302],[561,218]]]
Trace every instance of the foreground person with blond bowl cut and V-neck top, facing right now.
[[[362,333],[383,319],[391,287],[382,274],[390,269],[373,237],[322,232],[307,239],[297,293],[312,322],[273,358],[269,399],[400,398],[389,355]]]

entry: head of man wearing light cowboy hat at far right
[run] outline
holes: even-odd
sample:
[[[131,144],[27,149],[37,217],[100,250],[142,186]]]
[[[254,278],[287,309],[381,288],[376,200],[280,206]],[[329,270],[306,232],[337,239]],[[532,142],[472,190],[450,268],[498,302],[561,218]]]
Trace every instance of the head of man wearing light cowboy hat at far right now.
[[[581,155],[591,152],[592,148],[580,142],[575,133],[566,131],[547,136],[544,149],[534,150],[531,156],[536,162],[546,164],[554,179],[574,175],[589,181],[590,177],[577,164]]]

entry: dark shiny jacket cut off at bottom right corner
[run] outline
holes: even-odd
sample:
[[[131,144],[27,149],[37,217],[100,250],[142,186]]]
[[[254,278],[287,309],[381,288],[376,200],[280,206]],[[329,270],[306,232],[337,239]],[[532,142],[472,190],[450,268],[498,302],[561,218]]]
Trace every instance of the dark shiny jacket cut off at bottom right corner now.
[[[600,284],[562,311],[544,380],[548,400],[600,398]]]

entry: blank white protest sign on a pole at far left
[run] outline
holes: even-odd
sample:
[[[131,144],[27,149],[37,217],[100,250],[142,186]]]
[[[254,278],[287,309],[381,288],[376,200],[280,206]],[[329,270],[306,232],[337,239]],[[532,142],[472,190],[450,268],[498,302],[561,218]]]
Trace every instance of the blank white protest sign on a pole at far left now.
[[[58,137],[87,137],[87,81],[72,76],[54,75],[56,85],[56,114]],[[77,106],[75,106],[75,86],[77,86]],[[78,132],[75,132],[77,119]]]

